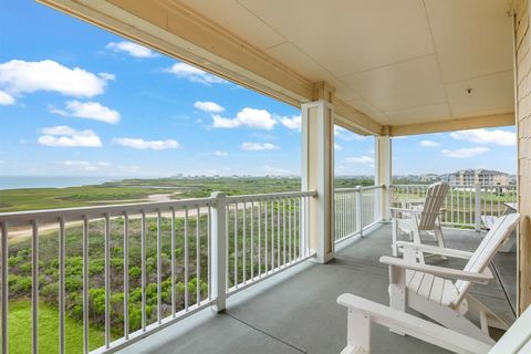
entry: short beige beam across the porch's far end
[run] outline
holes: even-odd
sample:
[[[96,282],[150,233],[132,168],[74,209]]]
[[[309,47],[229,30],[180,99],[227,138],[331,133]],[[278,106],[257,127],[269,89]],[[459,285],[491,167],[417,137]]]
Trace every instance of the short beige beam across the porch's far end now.
[[[391,136],[442,133],[514,125],[514,113],[490,114],[417,124],[392,125]]]

